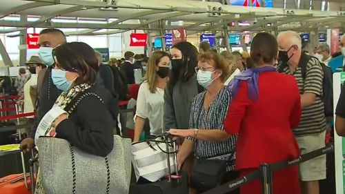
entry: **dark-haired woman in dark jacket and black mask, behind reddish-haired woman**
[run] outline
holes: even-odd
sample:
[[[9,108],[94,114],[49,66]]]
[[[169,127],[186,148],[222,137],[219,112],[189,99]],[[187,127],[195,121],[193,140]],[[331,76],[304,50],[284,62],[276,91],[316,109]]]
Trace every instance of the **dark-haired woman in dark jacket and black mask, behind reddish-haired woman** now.
[[[191,43],[180,42],[172,46],[170,54],[172,70],[164,94],[165,128],[188,128],[191,103],[204,90],[197,84],[194,70],[198,52]]]

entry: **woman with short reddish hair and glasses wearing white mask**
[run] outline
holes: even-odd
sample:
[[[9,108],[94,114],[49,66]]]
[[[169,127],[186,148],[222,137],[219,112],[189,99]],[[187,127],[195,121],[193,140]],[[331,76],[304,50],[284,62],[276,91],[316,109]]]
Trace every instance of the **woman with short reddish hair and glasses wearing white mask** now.
[[[195,158],[224,161],[226,173],[220,180],[220,184],[237,177],[237,173],[234,171],[237,135],[228,135],[223,126],[231,101],[230,91],[223,84],[226,79],[224,72],[228,72],[228,66],[217,53],[206,52],[199,55],[196,71],[197,81],[206,91],[197,95],[193,101],[189,121],[190,129],[170,129],[169,133],[178,137],[188,137],[177,155],[179,166],[184,163],[193,149]],[[193,183],[193,176],[191,179]],[[197,190],[198,193],[201,193],[207,189],[197,188]]]

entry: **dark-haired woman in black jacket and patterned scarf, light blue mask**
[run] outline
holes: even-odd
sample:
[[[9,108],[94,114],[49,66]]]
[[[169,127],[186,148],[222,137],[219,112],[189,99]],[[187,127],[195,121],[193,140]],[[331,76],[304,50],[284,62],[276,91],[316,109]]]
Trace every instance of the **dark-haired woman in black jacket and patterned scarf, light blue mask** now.
[[[118,105],[106,88],[96,84],[95,51],[86,43],[72,42],[55,48],[53,55],[52,82],[63,93],[41,120],[35,141],[40,136],[58,137],[81,151],[105,157],[113,148]],[[36,193],[44,193],[40,178],[39,174]]]

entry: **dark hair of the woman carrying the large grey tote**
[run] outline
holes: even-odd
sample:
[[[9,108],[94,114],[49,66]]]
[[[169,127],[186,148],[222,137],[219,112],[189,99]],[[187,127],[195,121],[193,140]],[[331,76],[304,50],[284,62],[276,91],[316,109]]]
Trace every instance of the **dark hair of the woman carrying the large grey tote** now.
[[[77,72],[76,84],[95,84],[99,69],[95,50],[83,42],[64,43],[53,50],[60,68]]]

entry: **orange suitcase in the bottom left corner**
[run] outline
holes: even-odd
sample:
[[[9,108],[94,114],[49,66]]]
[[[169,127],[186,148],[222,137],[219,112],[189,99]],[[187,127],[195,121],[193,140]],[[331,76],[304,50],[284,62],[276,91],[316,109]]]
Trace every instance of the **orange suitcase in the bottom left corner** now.
[[[34,172],[34,162],[37,161],[37,158],[32,158],[29,161],[30,173],[26,173],[26,167],[24,165],[24,157],[21,152],[23,173],[8,175],[0,179],[0,193],[1,194],[30,194],[34,193],[34,182],[35,180]]]

